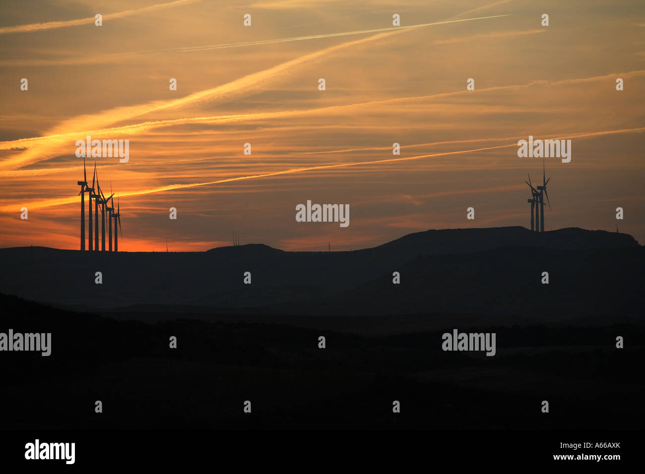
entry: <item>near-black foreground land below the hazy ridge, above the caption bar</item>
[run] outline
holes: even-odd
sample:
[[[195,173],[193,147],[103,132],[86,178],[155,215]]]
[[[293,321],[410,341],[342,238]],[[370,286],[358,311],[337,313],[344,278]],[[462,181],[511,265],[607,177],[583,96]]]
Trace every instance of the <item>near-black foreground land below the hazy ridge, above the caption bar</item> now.
[[[0,331],[52,333],[49,357],[1,353],[5,429],[598,430],[645,422],[643,324],[491,325],[441,314],[297,324],[205,313],[148,313],[157,322],[142,322],[6,295],[0,304]],[[495,332],[497,354],[442,351],[442,333],[455,327]],[[618,335],[624,349],[615,347]],[[243,412],[245,400],[252,413]],[[393,400],[401,413],[392,413]],[[541,413],[542,400],[550,413]]]

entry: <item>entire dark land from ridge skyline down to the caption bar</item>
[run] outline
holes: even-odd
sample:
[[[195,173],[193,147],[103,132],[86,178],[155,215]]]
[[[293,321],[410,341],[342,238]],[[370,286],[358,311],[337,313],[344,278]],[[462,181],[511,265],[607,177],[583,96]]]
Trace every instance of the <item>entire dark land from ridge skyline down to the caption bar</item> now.
[[[0,332],[52,333],[49,357],[0,352],[2,428],[644,426],[645,252],[630,235],[437,230],[352,252],[26,247],[0,262]],[[494,332],[497,353],[443,351],[453,329]]]

